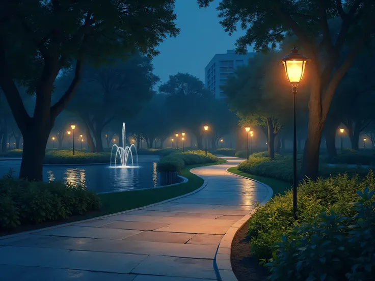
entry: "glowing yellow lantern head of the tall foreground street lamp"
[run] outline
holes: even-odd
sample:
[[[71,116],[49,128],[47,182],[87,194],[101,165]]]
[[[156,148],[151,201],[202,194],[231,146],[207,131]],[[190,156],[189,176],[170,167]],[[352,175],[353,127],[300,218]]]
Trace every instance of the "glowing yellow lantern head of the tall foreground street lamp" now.
[[[310,61],[302,53],[298,52],[296,46],[291,53],[285,55],[280,62],[284,65],[286,77],[293,87],[297,87],[305,72],[306,63]]]

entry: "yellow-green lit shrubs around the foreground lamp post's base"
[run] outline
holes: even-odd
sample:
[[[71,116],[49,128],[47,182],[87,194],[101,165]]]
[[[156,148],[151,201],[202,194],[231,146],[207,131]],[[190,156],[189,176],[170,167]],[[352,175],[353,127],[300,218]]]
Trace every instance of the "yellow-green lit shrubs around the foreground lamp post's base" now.
[[[316,181],[305,180],[298,186],[298,220],[294,219],[292,192],[276,195],[257,211],[249,221],[248,235],[251,239],[251,253],[258,259],[270,259],[275,248],[274,242],[281,242],[282,236],[290,237],[294,226],[301,223],[314,224],[322,221],[322,211],[335,211],[345,216],[353,216],[353,202],[357,200],[356,190],[375,188],[372,171],[361,180],[338,175]]]

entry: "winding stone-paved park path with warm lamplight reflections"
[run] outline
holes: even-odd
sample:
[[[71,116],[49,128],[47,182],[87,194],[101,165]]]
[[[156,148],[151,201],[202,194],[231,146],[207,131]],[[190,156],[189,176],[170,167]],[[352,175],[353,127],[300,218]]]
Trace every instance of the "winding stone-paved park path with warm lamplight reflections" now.
[[[269,197],[255,181],[226,172],[242,159],[192,170],[198,192],[68,226],[0,238],[2,281],[208,281],[221,239]],[[176,186],[178,188],[178,185]]]

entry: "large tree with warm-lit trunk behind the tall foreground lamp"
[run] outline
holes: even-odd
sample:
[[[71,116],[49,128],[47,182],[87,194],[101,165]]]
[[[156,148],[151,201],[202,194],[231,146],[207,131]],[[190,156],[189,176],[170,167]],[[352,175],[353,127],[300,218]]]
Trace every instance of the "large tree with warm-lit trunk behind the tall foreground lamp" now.
[[[198,0],[198,4],[207,7],[212,1]],[[375,33],[375,3],[370,0],[221,0],[218,10],[227,32],[236,31],[238,21],[247,30],[237,40],[238,52],[244,52],[247,45],[253,45],[256,51],[269,51],[285,36],[294,34],[311,59],[306,68],[311,90],[302,170],[303,175],[315,178],[322,132],[336,88],[361,47]],[[337,36],[332,36],[329,30],[328,22],[332,18],[339,18],[341,22]],[[339,62],[344,46],[349,52]]]

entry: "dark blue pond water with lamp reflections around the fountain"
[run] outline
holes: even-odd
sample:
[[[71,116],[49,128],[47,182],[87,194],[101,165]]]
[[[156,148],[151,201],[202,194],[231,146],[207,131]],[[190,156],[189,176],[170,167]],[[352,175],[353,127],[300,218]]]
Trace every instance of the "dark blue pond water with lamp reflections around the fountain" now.
[[[43,180],[63,181],[71,184],[85,184],[95,192],[118,192],[151,188],[160,185],[160,177],[156,172],[158,156],[140,155],[139,168],[111,168],[109,164],[43,166]],[[0,161],[0,176],[9,168],[18,177],[21,160]]]

